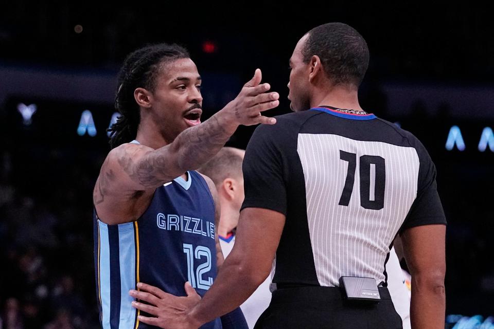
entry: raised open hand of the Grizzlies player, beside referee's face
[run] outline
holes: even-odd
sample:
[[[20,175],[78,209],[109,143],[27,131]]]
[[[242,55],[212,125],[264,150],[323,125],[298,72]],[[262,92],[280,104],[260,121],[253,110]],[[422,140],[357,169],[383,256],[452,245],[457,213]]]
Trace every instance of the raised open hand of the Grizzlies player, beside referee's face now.
[[[262,83],[262,73],[256,69],[254,77],[244,84],[238,96],[225,106],[231,111],[239,124],[253,125],[258,123],[275,124],[275,118],[261,115],[261,112],[279,105],[279,94],[267,93],[271,88],[269,83]]]

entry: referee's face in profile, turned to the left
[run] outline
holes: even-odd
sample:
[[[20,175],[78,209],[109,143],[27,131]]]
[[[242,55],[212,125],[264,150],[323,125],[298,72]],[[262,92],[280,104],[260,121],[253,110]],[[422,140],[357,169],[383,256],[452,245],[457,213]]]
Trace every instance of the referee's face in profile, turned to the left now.
[[[300,39],[290,58],[290,81],[288,82],[288,99],[290,108],[294,112],[305,111],[310,108],[309,94],[309,64],[303,62],[302,49],[308,34]]]

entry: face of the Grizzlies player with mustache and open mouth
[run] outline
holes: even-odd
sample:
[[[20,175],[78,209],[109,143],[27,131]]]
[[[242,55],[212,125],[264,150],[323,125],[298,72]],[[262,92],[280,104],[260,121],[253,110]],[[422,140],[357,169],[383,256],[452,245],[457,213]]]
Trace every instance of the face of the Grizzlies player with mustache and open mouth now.
[[[152,115],[158,129],[172,142],[188,127],[201,123],[201,77],[189,58],[160,67],[152,93]]]

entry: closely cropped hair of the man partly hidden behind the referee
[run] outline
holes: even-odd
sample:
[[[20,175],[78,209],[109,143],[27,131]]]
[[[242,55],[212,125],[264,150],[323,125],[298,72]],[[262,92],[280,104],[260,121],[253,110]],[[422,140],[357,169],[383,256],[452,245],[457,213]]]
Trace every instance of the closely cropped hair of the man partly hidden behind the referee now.
[[[197,171],[211,178],[219,186],[226,178],[242,178],[244,150],[224,147]]]

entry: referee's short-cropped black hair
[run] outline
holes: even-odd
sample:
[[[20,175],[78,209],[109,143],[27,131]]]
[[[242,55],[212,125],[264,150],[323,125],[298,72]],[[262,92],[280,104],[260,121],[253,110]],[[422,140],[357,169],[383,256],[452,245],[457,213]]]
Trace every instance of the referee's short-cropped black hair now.
[[[369,66],[369,48],[362,35],[344,23],[323,24],[308,34],[302,49],[304,63],[317,55],[333,83],[358,87]]]

